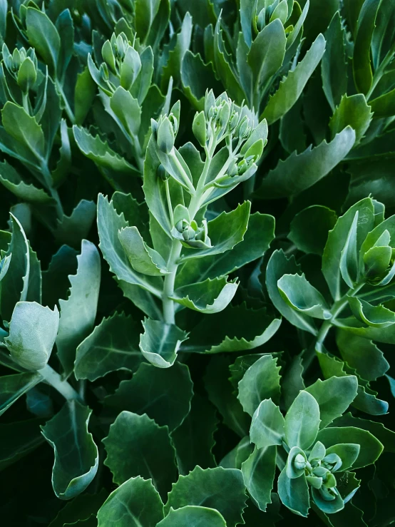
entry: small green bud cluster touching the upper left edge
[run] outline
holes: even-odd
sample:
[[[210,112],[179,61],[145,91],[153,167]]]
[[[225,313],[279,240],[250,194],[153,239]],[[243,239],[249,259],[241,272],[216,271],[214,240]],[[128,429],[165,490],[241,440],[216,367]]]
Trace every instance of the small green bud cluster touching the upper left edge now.
[[[19,88],[28,93],[37,80],[37,58],[33,48],[15,48],[12,55],[6,44],[2,48],[4,66],[16,80]]]

